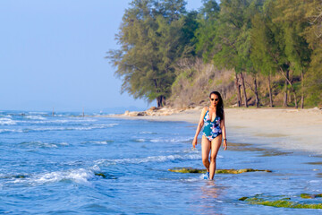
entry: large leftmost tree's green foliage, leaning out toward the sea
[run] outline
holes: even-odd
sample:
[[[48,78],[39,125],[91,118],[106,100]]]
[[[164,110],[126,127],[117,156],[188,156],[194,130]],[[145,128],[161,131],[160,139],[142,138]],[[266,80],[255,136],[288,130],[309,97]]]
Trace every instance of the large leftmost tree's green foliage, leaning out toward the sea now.
[[[183,0],[131,2],[116,36],[121,47],[107,56],[123,80],[122,92],[148,101],[170,96],[174,63],[197,28],[191,24],[196,14],[185,17],[184,5]]]

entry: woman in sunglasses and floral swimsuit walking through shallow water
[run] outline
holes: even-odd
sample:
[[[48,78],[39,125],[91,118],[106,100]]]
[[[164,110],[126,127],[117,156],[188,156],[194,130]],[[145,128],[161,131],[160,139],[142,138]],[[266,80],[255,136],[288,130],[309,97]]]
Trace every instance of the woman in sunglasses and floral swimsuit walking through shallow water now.
[[[209,95],[210,106],[204,107],[201,111],[199,119],[199,125],[197,127],[196,134],[193,138],[192,145],[196,148],[197,137],[203,125],[205,125],[202,131],[201,140],[201,153],[202,162],[207,168],[207,177],[205,179],[212,180],[216,172],[216,155],[222,143],[224,137],[225,150],[227,149],[227,139],[225,132],[225,113],[224,102],[219,92],[212,91]],[[211,150],[210,162],[209,152]]]

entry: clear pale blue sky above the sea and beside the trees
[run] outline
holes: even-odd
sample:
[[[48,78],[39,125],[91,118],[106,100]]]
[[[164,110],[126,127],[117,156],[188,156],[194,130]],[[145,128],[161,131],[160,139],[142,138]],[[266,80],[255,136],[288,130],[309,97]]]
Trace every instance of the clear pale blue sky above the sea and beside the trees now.
[[[104,57],[130,0],[1,0],[0,110],[156,105],[120,94]],[[188,10],[201,0],[187,1]]]

